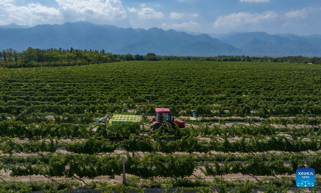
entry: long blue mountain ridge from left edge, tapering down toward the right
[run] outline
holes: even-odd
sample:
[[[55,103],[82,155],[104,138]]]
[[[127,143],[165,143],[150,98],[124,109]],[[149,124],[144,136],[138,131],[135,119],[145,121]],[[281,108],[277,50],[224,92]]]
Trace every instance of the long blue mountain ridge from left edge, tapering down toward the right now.
[[[159,55],[221,55],[245,53],[219,39],[206,34],[189,35],[174,30],[158,28],[132,29],[112,25],[96,25],[90,22],[66,22],[62,25],[37,25],[26,29],[1,30],[6,37],[0,49],[18,51],[33,48],[105,49],[118,54]]]

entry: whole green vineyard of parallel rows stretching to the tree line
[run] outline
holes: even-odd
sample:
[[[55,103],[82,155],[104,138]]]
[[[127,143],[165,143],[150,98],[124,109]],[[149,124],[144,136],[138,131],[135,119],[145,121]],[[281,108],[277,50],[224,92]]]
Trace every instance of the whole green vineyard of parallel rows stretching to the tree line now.
[[[297,190],[297,168],[314,168],[310,190],[320,191],[320,65],[0,68],[0,88],[0,189],[7,192],[286,192]],[[155,108],[171,108],[187,127],[149,131]],[[142,121],[89,129],[107,114]]]

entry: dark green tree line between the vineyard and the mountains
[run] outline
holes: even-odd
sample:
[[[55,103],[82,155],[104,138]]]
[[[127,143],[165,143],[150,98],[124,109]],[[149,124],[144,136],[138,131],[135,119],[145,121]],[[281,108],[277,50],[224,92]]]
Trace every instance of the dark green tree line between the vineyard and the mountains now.
[[[300,63],[300,64],[321,64],[320,57],[249,57],[249,56],[215,56],[215,57],[193,57],[193,56],[158,56],[154,53],[146,55],[116,55],[102,50],[80,50],[80,49],[63,49],[63,48],[28,48],[21,53],[8,48],[0,52],[0,66],[8,68],[18,67],[39,67],[39,66],[75,66],[101,64],[119,61],[131,60],[184,60],[184,61],[229,61],[229,62],[284,62],[284,63]]]

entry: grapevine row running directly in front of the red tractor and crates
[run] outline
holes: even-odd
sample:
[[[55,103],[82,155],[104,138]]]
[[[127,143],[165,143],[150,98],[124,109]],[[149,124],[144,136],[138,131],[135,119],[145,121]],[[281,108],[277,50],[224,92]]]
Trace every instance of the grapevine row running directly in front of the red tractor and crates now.
[[[57,138],[74,138],[74,137],[88,137],[94,136],[96,133],[88,129],[88,125],[61,123],[53,124],[41,122],[38,124],[22,124],[18,121],[7,120],[0,121],[2,132],[1,137],[11,138],[41,138],[50,135]],[[129,136],[130,134],[137,134],[137,124],[120,124],[113,127],[102,127],[100,136]],[[172,136],[201,136],[201,137],[244,137],[244,136],[275,136],[280,133],[289,134],[291,137],[312,137],[321,136],[321,130],[315,132],[314,128],[276,128],[268,124],[261,124],[260,126],[246,126],[244,124],[233,124],[229,127],[222,125],[205,124],[197,128],[187,127],[183,131],[178,130],[172,133]],[[153,136],[153,135],[151,135]]]

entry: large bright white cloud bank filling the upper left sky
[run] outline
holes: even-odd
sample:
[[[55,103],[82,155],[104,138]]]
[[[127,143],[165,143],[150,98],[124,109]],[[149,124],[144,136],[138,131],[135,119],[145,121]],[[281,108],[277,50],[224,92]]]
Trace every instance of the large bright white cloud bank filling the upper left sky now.
[[[126,11],[120,0],[56,0],[56,3],[57,8],[40,3],[16,6],[9,0],[0,0],[0,13],[5,15],[1,20],[5,23],[36,25],[126,18]]]

